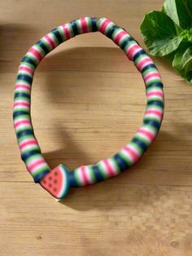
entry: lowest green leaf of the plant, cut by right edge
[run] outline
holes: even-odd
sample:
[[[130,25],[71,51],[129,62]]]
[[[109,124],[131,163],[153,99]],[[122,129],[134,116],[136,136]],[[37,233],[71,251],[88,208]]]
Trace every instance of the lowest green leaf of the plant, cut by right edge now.
[[[192,83],[192,46],[177,52],[172,61],[172,67],[176,68],[187,82]]]

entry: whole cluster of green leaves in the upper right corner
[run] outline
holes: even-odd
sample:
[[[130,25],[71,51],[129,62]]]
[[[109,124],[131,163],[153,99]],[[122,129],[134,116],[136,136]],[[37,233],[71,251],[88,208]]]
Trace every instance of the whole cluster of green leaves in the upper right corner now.
[[[146,14],[141,32],[151,55],[169,60],[192,84],[192,0],[166,0],[162,11]]]

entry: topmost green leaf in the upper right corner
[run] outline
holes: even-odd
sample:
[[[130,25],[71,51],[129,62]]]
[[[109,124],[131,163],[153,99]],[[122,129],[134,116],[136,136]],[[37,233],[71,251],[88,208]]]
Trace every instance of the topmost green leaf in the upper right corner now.
[[[182,29],[192,28],[191,0],[166,0],[162,11]]]

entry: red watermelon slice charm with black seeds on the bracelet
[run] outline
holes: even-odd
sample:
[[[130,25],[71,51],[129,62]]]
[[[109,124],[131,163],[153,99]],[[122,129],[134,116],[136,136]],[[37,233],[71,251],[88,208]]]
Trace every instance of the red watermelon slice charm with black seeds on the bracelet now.
[[[50,170],[41,180],[40,185],[56,199],[62,199],[69,189],[69,170],[66,166],[59,165]]]

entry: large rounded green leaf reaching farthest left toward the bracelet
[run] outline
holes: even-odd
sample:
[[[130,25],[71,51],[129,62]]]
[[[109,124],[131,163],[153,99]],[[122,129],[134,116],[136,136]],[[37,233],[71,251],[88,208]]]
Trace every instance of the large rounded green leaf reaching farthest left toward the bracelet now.
[[[175,51],[182,41],[181,29],[162,11],[146,14],[141,32],[151,55],[165,56]]]

